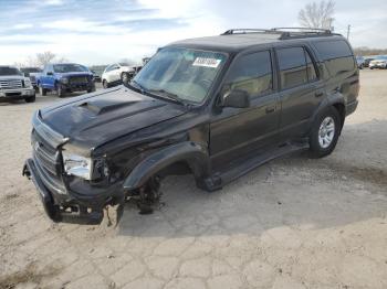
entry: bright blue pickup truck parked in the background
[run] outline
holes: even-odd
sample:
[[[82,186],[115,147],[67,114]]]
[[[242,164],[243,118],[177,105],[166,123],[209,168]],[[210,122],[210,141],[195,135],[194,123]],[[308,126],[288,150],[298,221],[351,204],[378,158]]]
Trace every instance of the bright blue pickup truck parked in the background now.
[[[41,95],[54,90],[59,97],[73,92],[95,90],[92,72],[86,66],[75,63],[45,65],[38,79],[38,86]]]

